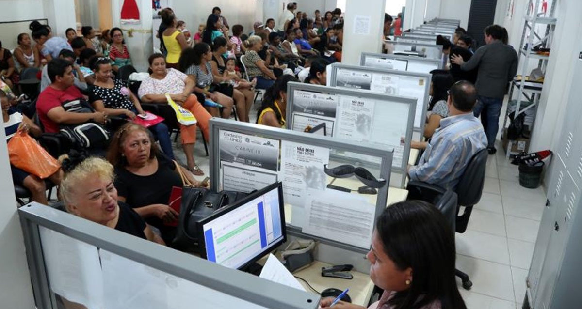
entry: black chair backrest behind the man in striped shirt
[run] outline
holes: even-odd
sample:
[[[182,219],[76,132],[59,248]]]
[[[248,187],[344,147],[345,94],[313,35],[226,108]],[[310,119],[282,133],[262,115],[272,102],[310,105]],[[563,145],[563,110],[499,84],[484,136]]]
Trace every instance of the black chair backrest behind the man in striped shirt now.
[[[459,179],[456,188],[459,205],[473,206],[481,199],[485,185],[485,169],[487,167],[487,149],[482,149],[467,164],[467,168]]]

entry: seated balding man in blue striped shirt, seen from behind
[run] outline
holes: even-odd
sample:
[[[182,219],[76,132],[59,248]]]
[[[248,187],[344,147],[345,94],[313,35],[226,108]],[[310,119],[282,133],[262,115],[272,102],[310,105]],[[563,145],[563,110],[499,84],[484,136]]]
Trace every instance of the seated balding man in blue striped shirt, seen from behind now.
[[[450,88],[449,117],[441,120],[418,165],[408,167],[410,180],[455,189],[471,157],[487,148],[481,121],[473,116],[475,102],[477,91],[470,82],[458,81]]]

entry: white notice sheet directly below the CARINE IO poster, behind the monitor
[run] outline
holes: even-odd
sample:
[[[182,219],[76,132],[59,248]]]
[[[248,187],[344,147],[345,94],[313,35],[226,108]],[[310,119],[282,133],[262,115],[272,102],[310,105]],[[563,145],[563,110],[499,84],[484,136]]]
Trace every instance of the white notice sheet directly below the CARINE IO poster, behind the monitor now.
[[[277,181],[277,174],[265,168],[221,161],[221,190],[251,192]]]

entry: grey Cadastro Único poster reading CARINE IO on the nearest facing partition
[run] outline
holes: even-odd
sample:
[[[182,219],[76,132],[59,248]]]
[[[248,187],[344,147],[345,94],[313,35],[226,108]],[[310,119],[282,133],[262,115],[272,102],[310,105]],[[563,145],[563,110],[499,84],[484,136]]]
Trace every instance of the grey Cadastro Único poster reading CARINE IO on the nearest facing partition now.
[[[279,141],[221,130],[220,160],[277,171]]]

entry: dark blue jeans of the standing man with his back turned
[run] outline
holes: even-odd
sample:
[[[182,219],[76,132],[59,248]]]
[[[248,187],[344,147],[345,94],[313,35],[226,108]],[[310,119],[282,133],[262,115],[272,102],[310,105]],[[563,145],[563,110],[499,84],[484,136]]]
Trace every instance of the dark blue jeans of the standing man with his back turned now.
[[[501,106],[503,105],[503,98],[488,98],[487,96],[479,96],[477,104],[473,107],[473,114],[475,117],[481,115],[481,124],[485,129],[487,135],[487,147],[495,148],[495,136],[499,131],[499,114],[501,114]]]

